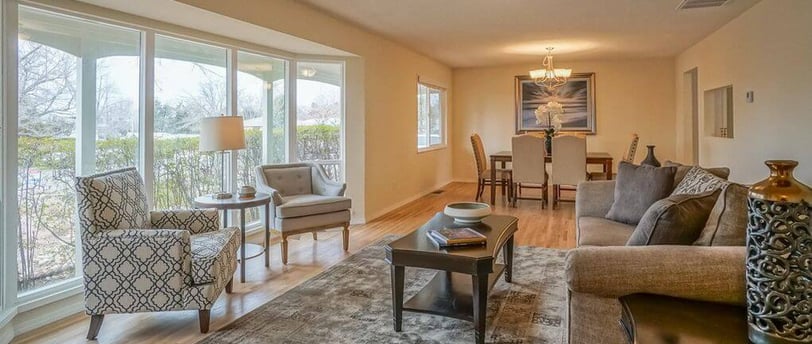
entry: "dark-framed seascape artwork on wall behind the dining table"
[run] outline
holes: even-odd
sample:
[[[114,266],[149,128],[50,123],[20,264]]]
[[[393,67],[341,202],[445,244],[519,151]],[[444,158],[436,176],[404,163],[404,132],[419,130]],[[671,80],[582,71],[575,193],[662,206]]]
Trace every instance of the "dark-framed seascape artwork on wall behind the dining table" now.
[[[516,133],[543,131],[536,123],[539,105],[556,101],[564,107],[561,132],[595,134],[595,73],[573,73],[567,83],[550,92],[527,75],[516,76]]]

